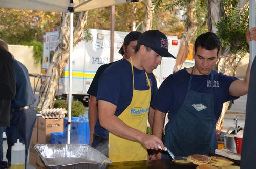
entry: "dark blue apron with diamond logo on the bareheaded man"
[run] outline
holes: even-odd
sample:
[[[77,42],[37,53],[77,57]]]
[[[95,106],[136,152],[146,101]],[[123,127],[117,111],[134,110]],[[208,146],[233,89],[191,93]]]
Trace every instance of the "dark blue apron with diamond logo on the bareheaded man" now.
[[[214,153],[217,148],[212,71],[210,94],[190,90],[192,76],[183,105],[165,127],[164,146],[177,156]],[[169,158],[162,154],[162,159]]]

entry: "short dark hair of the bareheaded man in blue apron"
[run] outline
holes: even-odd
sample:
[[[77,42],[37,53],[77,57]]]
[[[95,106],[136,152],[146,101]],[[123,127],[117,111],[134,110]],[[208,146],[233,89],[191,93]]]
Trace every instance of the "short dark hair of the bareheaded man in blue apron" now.
[[[201,46],[206,50],[214,50],[217,49],[217,54],[220,51],[221,43],[220,39],[215,33],[207,32],[199,35],[195,41],[194,49],[195,53],[197,53],[197,47]]]

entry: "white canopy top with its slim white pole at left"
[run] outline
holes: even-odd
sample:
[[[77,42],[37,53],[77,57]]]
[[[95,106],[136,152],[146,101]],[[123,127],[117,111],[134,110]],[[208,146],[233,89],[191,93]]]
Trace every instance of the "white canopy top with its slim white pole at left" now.
[[[73,60],[73,12],[88,11],[96,8],[108,7],[129,0],[1,0],[0,8],[16,8],[40,11],[69,12],[70,14],[70,57],[69,57],[69,93],[72,93],[72,60]],[[71,95],[71,94],[69,94]],[[68,144],[70,143],[70,124],[71,124],[71,102],[69,96],[68,103]]]

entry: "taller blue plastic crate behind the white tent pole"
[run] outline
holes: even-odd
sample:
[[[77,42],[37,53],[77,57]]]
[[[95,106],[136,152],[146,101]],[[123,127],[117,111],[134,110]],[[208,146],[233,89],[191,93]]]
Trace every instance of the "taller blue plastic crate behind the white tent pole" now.
[[[67,138],[68,118],[64,118],[64,138]],[[79,122],[79,117],[71,118],[70,142],[78,144],[89,144],[90,129],[89,121]]]

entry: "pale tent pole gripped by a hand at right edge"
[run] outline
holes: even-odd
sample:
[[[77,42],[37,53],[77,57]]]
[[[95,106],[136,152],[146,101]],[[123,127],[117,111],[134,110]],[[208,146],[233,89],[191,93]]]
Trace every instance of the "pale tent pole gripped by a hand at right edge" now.
[[[256,17],[255,17],[255,1],[250,0],[250,29],[256,26]],[[250,41],[250,67],[256,56],[256,41]]]

